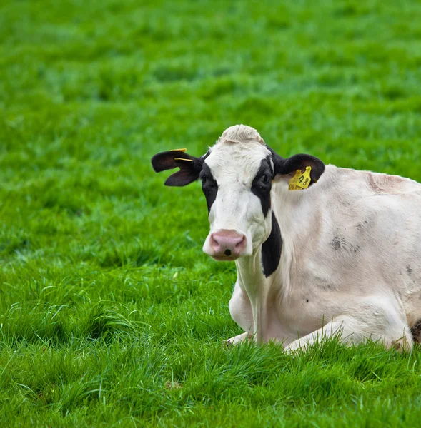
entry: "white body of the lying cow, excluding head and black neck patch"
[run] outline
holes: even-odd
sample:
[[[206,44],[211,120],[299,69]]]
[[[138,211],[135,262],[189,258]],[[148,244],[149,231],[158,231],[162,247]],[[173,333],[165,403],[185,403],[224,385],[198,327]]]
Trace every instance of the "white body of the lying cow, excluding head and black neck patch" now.
[[[412,344],[421,320],[419,183],[329,165],[306,191],[274,184],[272,207],[283,241],[277,270],[253,273],[259,254],[236,262],[229,309],[246,332],[254,332],[259,300],[262,341],[302,347],[323,327],[327,335],[342,330],[342,340]]]

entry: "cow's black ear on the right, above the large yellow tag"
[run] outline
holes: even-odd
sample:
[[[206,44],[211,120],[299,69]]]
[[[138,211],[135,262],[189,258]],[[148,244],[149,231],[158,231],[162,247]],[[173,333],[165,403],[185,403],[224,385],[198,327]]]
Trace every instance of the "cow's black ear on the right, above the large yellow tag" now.
[[[317,183],[322,173],[325,172],[325,163],[320,161],[319,158],[315,158],[311,155],[299,154],[291,156],[290,158],[284,159],[275,153],[274,157],[274,175],[282,175],[284,178],[291,178],[297,170],[301,170],[302,173],[306,170],[307,166],[311,167],[310,185]]]

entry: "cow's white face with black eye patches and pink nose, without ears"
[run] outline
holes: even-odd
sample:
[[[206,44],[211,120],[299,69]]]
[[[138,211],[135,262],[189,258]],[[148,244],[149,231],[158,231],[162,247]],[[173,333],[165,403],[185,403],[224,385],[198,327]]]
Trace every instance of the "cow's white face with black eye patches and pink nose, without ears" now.
[[[263,143],[221,140],[199,174],[210,223],[203,250],[217,260],[234,260],[251,255],[269,236],[274,163]]]

